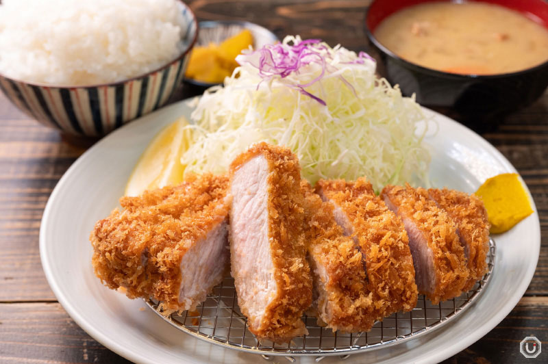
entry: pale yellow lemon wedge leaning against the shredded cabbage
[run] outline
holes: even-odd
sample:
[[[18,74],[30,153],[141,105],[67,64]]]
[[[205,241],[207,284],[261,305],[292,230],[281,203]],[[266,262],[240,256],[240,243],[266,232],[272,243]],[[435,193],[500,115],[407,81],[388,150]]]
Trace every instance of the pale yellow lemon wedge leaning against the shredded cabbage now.
[[[192,129],[182,117],[164,127],[142,153],[125,186],[125,196],[138,196],[153,188],[176,185],[183,180],[181,155],[192,144]]]

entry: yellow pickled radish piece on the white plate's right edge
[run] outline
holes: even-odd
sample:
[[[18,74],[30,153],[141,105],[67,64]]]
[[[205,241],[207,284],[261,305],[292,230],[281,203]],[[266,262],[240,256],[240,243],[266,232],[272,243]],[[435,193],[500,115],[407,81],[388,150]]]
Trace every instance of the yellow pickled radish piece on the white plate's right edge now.
[[[484,202],[493,234],[512,229],[533,213],[529,196],[516,173],[503,173],[487,179],[475,195]]]

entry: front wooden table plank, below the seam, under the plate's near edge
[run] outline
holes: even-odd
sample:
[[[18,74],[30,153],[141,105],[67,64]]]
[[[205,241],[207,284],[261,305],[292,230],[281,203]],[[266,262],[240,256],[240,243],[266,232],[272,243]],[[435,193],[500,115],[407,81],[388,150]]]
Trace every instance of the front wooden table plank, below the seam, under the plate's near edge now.
[[[499,327],[444,363],[525,363],[519,341],[535,335],[548,343],[547,311],[547,298],[523,298]],[[89,337],[58,303],[0,304],[0,362],[47,361],[129,363]]]

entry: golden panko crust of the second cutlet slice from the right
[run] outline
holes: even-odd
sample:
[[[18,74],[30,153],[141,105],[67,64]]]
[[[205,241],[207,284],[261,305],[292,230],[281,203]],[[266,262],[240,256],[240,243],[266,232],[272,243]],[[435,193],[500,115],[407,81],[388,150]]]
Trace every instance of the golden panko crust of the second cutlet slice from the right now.
[[[447,212],[429,198],[427,190],[415,189],[409,184],[406,187],[387,185],[382,196],[388,196],[399,216],[416,224],[432,250],[436,286],[433,292],[419,293],[425,294],[434,304],[460,296],[469,279],[469,270],[456,233],[457,226]]]

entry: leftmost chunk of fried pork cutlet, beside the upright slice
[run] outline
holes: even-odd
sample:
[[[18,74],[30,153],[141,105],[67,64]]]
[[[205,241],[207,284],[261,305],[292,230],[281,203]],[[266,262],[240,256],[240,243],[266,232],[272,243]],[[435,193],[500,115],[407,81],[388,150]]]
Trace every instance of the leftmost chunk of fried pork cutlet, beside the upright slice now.
[[[95,274],[129,298],[194,309],[227,269],[228,178],[192,176],[175,187],[122,197],[91,232]]]

